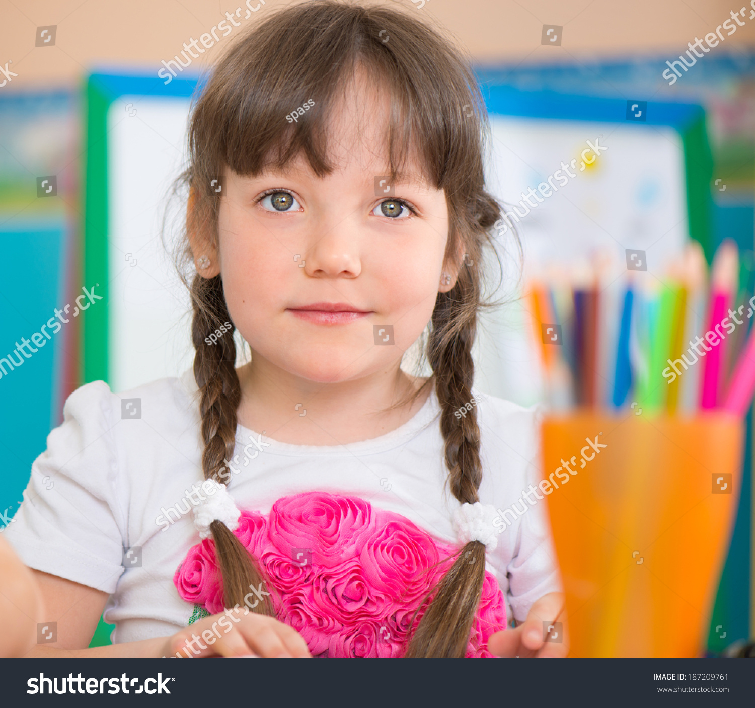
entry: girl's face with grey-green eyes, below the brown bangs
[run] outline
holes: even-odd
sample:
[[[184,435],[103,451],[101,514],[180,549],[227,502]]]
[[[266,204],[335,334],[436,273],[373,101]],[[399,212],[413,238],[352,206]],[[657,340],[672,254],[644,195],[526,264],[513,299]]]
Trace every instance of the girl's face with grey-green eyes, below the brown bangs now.
[[[321,383],[386,371],[424,330],[437,293],[453,287],[444,192],[416,164],[406,181],[383,177],[387,111],[374,91],[347,93],[325,177],[303,157],[258,177],[227,169],[219,250],[203,275],[222,274],[255,366],[261,357]]]

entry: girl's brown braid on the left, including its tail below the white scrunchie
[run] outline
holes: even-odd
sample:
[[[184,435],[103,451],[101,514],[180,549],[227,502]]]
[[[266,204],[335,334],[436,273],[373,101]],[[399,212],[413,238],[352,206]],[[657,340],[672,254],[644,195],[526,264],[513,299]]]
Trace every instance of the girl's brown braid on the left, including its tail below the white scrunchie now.
[[[208,334],[230,322],[220,276],[211,279],[195,276],[191,296],[194,310],[192,340],[196,349],[194,379],[202,394],[199,404],[205,445],[202,472],[205,479],[223,483],[223,476],[227,476],[224,460],[233,457],[236,447],[236,409],[241,401],[234,328],[232,326],[217,343],[205,342]],[[256,588],[263,582],[262,574],[248,551],[223,522],[212,522],[210,530],[223,576],[223,604],[226,607],[244,605],[244,596],[249,593],[250,586]],[[275,616],[268,596],[252,611]]]

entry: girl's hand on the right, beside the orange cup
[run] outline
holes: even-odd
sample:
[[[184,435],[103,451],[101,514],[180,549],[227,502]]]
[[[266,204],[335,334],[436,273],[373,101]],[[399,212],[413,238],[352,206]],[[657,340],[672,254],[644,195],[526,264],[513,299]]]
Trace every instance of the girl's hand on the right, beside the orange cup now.
[[[556,641],[543,641],[544,622],[548,625],[561,623],[561,636],[553,637]],[[551,630],[550,636],[555,631]],[[563,593],[542,596],[532,605],[524,623],[514,630],[493,634],[488,639],[488,650],[499,657],[565,657],[569,652],[569,634],[566,629]]]

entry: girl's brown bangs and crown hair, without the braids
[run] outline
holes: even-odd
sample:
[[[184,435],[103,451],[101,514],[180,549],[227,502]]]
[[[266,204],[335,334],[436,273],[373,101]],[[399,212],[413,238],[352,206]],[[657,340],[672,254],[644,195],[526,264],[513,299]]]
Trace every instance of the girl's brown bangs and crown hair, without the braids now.
[[[479,159],[485,106],[445,41],[424,26],[418,35],[416,20],[397,23],[397,14],[314,2],[278,11],[242,38],[196,103],[194,177],[224,165],[245,176],[285,171],[300,156],[318,177],[330,174],[333,118],[359,85],[390,101],[379,144],[391,180],[416,163],[436,189],[458,189],[470,155]]]

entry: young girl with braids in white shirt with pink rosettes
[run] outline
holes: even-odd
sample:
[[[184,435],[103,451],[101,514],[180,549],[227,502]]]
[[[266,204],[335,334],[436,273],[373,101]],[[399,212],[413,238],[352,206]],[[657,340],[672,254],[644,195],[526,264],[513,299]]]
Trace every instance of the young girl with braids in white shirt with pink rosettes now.
[[[565,654],[535,413],[472,387],[485,128],[410,14],[294,5],[230,49],[190,121],[193,372],[73,393],[8,533],[37,654]]]

